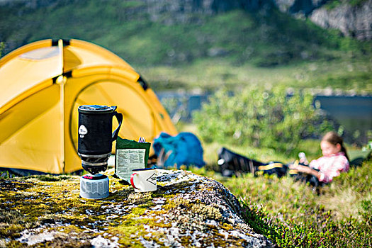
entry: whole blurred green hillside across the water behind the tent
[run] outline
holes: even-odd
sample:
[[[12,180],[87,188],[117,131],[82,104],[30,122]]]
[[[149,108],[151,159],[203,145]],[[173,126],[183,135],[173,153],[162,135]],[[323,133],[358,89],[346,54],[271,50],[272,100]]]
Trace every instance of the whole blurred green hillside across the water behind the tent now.
[[[154,89],[222,84],[286,84],[372,92],[371,42],[275,10],[216,15],[164,12],[143,1],[57,1],[1,6],[0,39],[18,47],[44,38],[77,38],[133,64]]]

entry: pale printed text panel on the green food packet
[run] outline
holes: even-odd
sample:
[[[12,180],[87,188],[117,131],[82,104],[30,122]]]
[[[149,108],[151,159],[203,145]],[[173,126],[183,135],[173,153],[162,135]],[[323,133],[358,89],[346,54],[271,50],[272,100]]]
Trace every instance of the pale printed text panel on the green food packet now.
[[[116,150],[115,174],[120,179],[130,181],[133,169],[145,168],[146,149],[120,149]]]

